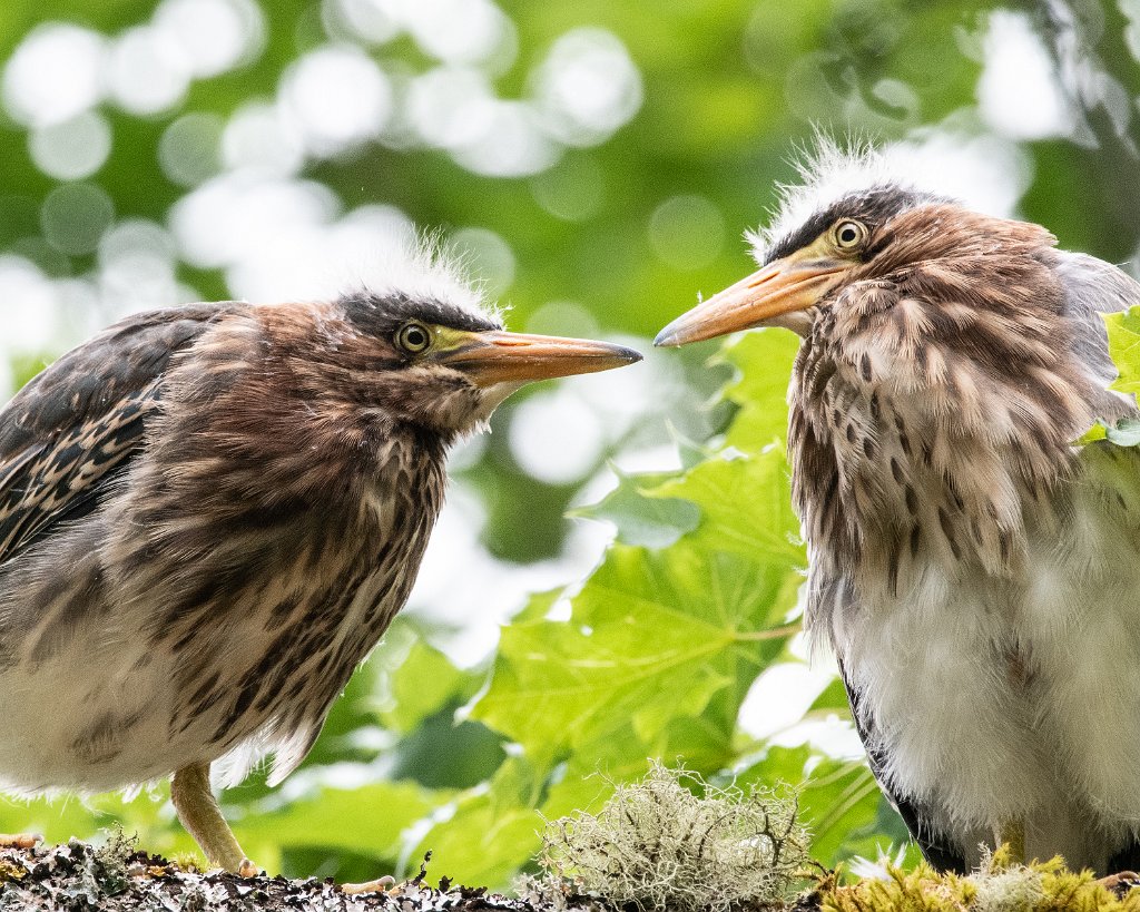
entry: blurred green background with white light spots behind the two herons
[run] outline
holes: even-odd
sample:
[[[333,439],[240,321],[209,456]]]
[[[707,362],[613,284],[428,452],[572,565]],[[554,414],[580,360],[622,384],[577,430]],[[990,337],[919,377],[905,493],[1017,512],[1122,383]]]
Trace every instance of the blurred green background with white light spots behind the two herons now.
[[[1138,57],[1135,0],[7,0],[0,396],[137,310],[366,284],[416,227],[447,238],[512,328],[648,350],[749,269],[742,234],[816,130],[898,144],[976,205],[1131,262]],[[258,861],[369,877],[435,847],[437,873],[492,886],[526,864],[564,767],[507,782],[527,751],[464,707],[500,625],[613,538],[568,512],[679,471],[684,441],[725,429],[739,402],[714,396],[731,376],[715,350],[537,386],[454,455],[406,620],[304,769],[227,796]],[[830,682],[798,654],[754,669],[740,719],[788,750]],[[841,699],[819,706],[848,732]],[[838,736],[824,755],[845,751]],[[852,763],[829,801],[863,801],[876,845],[897,842]],[[162,796],[8,800],[0,830],[65,839],[120,820],[185,850]],[[854,853],[840,842],[829,860]]]

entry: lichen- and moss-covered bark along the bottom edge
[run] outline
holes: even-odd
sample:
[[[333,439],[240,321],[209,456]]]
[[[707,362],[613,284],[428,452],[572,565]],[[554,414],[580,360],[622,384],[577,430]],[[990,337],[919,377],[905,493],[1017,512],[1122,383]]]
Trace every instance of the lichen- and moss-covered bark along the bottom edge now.
[[[927,865],[885,868],[879,878],[840,883],[817,869],[812,887],[781,902],[733,904],[732,912],[1140,912],[1135,881],[1097,881],[1073,873],[1060,860],[1011,864],[1004,849],[968,877]],[[332,880],[241,878],[187,870],[132,842],[112,838],[104,847],[73,839],[64,846],[0,849],[0,912],[676,912],[638,910],[576,893],[576,883],[531,878],[519,898],[486,888],[459,887],[443,878],[429,886],[425,871],[386,893],[348,895]]]

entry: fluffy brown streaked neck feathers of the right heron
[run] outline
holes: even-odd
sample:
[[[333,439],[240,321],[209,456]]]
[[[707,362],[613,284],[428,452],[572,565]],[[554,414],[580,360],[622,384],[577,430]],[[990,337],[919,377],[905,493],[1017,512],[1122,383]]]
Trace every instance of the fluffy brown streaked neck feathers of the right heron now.
[[[1072,441],[1124,409],[1074,355],[1052,237],[948,210],[896,220],[873,272],[819,307],[793,370],[813,575],[864,603],[904,595],[929,561],[1018,576]]]

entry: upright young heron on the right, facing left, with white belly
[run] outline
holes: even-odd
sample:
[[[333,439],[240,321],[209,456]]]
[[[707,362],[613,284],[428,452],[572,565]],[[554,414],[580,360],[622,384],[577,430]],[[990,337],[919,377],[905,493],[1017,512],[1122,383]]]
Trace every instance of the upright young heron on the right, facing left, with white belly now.
[[[872,769],[926,857],[979,844],[1140,862],[1140,455],[1098,311],[1140,285],[1044,228],[825,149],[755,236],[759,270],[657,337],[801,336],[789,391],[830,644]]]

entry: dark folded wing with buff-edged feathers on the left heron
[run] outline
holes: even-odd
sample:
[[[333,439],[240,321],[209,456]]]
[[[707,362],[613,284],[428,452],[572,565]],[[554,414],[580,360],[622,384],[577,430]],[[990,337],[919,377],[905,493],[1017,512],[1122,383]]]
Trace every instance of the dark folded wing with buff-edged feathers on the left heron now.
[[[249,304],[155,310],[64,355],[0,412],[0,564],[90,513],[142,443],[176,352]]]

